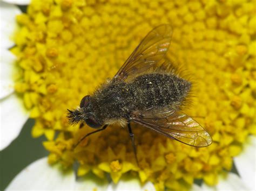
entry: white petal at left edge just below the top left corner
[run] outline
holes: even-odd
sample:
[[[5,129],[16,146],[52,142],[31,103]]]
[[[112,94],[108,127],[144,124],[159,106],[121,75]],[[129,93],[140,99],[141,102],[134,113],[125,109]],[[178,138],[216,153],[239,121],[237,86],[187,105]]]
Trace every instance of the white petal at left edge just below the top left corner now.
[[[17,6],[4,3],[0,1],[0,40],[1,40],[1,54],[5,48],[10,48],[14,45],[14,41],[11,40],[12,34],[14,34],[17,23],[16,15],[20,14],[21,10]]]

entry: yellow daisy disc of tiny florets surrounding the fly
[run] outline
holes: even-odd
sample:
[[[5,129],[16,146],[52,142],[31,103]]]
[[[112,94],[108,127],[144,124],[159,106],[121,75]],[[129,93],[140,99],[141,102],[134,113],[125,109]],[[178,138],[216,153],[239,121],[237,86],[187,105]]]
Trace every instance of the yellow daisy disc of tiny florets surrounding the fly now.
[[[230,171],[248,135],[255,135],[255,10],[253,1],[32,0],[17,16],[15,90],[30,117],[32,136],[45,136],[49,163],[78,175],[124,173],[152,181],[158,190],[186,190],[194,179],[218,183]],[[181,144],[132,124],[139,166],[127,129],[112,124],[87,137],[66,109],[116,74],[147,32],[171,24],[167,57],[191,75],[192,104],[184,109],[212,136],[208,147]],[[120,163],[119,161],[122,161]],[[132,173],[131,173],[132,172]]]

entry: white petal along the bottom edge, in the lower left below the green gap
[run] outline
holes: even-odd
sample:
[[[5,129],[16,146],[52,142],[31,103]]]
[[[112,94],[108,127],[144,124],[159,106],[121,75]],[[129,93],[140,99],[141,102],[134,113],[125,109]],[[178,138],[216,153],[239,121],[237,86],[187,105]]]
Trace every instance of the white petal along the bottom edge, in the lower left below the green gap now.
[[[73,171],[63,173],[59,165],[50,166],[47,158],[42,158],[23,169],[6,190],[105,190],[106,187],[106,180],[92,174],[76,181]]]

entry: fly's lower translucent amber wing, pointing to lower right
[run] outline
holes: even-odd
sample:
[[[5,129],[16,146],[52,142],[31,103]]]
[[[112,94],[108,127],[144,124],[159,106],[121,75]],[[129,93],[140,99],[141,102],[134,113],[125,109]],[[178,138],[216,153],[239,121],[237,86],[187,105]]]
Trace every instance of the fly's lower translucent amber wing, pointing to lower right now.
[[[132,121],[158,133],[196,147],[212,143],[211,136],[190,116],[170,109],[136,111]]]

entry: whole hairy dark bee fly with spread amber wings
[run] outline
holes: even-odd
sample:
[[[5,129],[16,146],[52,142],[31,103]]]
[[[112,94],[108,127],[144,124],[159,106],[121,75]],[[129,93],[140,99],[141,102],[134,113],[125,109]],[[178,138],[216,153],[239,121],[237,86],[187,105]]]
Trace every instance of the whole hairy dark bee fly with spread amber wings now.
[[[137,160],[131,122],[187,145],[204,147],[212,143],[211,136],[180,111],[191,82],[179,77],[177,69],[165,56],[171,38],[170,25],[154,28],[113,79],[102,84],[91,96],[86,95],[79,109],[68,110],[71,124],[85,122],[97,129],[80,139],[76,146],[92,133],[119,123],[128,126]]]

